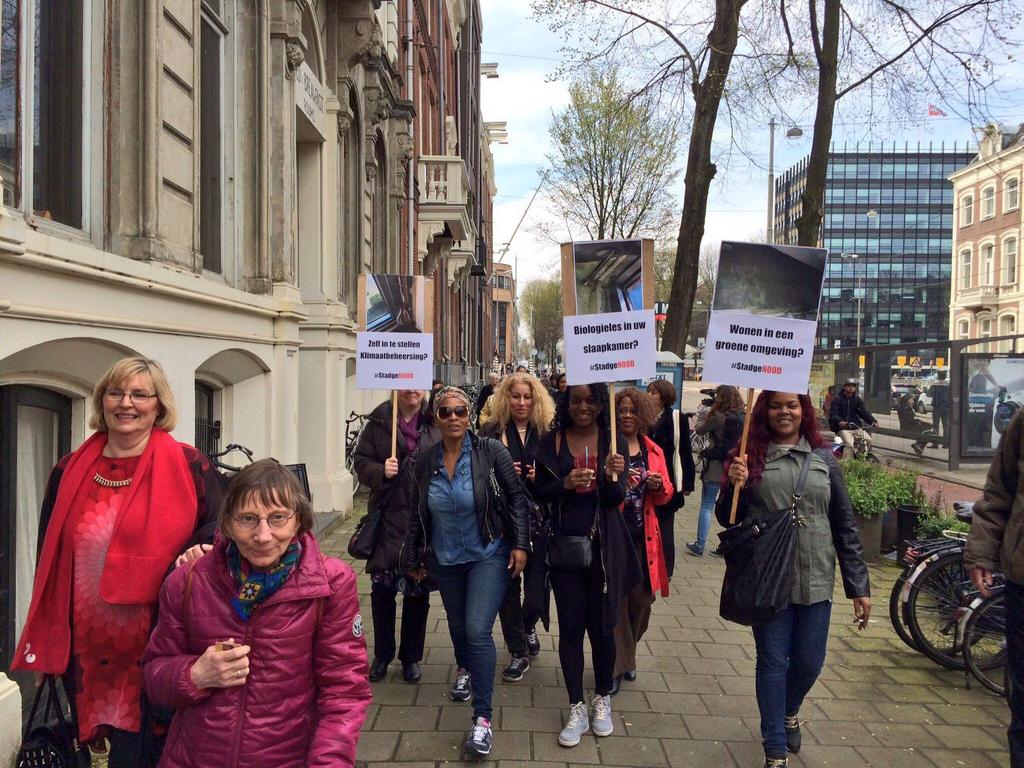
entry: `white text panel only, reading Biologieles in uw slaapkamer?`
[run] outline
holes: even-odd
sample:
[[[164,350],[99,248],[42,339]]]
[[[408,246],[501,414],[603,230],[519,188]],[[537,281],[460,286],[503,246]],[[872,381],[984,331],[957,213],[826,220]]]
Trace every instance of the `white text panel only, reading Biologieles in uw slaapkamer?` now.
[[[654,310],[562,317],[565,378],[569,384],[653,377]]]

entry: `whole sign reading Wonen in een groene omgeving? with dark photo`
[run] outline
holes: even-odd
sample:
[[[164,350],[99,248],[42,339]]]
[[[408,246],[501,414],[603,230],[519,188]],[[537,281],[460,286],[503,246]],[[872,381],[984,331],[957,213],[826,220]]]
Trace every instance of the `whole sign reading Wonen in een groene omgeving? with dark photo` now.
[[[806,393],[827,252],[723,243],[703,381]]]

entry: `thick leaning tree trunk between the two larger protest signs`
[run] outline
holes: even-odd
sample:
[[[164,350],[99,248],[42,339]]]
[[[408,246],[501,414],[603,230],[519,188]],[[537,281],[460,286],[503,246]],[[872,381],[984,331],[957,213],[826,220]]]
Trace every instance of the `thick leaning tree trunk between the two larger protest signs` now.
[[[662,338],[662,349],[671,350],[680,357],[685,355],[693,297],[696,294],[708,196],[718,170],[711,160],[715,121],[718,119],[722,92],[732,65],[732,54],[736,50],[739,12],[745,4],[746,0],[716,0],[715,26],[708,35],[711,51],[708,72],[702,81],[693,84],[693,127],[683,180],[683,214],[679,222],[669,312]]]

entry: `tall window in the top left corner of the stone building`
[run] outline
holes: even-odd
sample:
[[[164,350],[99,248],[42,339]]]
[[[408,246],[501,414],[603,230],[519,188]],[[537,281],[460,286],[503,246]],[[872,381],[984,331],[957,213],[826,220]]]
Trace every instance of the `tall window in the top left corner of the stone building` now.
[[[3,202],[78,229],[85,226],[86,4],[0,0]]]

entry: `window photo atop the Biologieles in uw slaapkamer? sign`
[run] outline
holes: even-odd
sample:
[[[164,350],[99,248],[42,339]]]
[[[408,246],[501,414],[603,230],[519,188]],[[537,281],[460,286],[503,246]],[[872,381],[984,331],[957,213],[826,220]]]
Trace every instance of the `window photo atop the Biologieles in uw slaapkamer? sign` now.
[[[575,243],[577,314],[643,309],[641,241]]]

